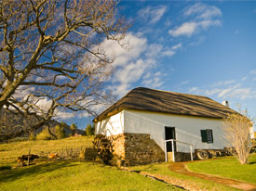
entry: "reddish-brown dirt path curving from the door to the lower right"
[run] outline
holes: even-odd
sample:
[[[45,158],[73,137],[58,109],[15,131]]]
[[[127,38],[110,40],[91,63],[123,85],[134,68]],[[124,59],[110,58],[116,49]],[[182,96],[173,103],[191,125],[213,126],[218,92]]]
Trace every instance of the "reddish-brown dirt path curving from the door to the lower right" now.
[[[236,187],[241,190],[249,190],[249,191],[256,191],[256,185],[244,183],[241,181],[231,180],[228,178],[221,178],[218,176],[205,174],[205,173],[198,173],[198,172],[190,172],[186,169],[185,165],[188,162],[174,162],[169,165],[169,170],[173,172],[182,173],[184,175],[193,176],[205,180],[209,180],[218,184],[228,185],[231,187]]]

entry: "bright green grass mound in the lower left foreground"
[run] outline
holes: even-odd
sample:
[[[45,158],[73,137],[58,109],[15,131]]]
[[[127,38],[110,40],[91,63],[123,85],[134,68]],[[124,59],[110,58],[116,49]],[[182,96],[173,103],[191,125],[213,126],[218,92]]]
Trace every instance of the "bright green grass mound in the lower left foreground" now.
[[[84,161],[57,161],[0,172],[1,190],[181,190],[135,172]]]

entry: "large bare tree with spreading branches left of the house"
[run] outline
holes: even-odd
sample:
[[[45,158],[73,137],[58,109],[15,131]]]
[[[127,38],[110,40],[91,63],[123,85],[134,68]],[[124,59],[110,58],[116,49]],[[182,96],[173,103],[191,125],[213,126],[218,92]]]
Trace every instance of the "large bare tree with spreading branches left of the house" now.
[[[101,90],[114,58],[101,43],[122,45],[129,27],[116,6],[115,0],[0,1],[0,109],[34,116],[26,131],[64,108],[95,114],[91,107],[110,97]]]

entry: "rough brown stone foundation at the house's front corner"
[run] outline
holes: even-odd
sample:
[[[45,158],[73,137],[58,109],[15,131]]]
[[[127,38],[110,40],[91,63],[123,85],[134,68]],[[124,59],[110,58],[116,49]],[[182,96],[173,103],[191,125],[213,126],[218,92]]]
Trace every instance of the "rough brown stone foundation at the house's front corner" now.
[[[165,161],[165,152],[150,134],[117,134],[109,138],[119,164],[134,166]]]

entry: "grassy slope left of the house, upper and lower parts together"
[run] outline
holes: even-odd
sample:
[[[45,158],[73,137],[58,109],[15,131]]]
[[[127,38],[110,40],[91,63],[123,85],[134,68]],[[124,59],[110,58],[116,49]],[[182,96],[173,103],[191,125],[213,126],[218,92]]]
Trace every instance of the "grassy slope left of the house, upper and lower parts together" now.
[[[31,149],[40,157],[49,152],[68,149],[79,150],[92,146],[93,136],[70,137],[50,141],[26,141],[0,144],[0,167],[16,167],[16,159]],[[103,165],[101,161],[89,162],[82,159],[34,160],[36,164],[1,171],[1,190],[182,190],[172,185],[155,181],[133,172],[120,171]]]

